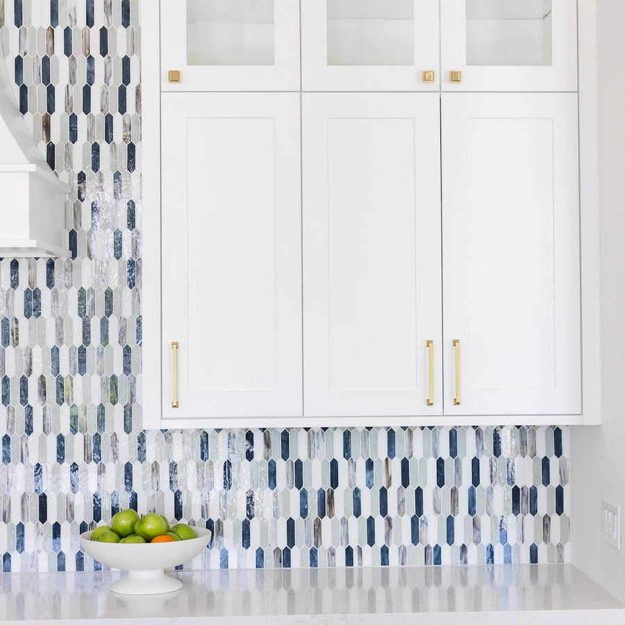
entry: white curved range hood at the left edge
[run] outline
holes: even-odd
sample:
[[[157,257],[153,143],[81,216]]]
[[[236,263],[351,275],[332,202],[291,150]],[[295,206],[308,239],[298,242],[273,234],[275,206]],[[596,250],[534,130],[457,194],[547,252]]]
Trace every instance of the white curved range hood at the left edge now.
[[[0,56],[0,258],[72,256],[65,230],[68,193],[28,131]]]

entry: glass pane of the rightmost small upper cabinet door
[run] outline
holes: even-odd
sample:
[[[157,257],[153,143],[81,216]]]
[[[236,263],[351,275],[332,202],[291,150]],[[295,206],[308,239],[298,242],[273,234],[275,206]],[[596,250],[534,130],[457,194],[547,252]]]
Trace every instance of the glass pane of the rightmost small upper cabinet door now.
[[[466,0],[467,65],[551,65],[551,0]]]

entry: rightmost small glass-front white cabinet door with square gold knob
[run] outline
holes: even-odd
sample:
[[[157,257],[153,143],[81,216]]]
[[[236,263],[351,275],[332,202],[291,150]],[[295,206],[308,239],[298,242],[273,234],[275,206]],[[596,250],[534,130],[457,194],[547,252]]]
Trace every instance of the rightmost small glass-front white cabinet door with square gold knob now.
[[[440,18],[442,90],[577,90],[575,0],[442,0]]]

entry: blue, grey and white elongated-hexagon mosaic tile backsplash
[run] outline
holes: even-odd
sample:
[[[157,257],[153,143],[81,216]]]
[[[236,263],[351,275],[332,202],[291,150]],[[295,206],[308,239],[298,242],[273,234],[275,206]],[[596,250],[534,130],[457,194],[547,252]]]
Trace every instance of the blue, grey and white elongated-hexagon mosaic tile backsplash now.
[[[566,428],[142,431],[140,35],[138,0],[0,0],[74,256],[0,260],[2,570],[99,569],[127,506],[213,530],[185,567],[569,561]]]

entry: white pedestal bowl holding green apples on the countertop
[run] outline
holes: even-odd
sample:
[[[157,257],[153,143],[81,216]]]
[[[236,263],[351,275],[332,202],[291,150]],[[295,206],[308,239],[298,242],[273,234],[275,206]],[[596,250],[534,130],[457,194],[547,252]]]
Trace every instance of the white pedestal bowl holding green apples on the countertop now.
[[[156,544],[124,544],[91,540],[91,532],[81,534],[81,546],[94,560],[115,569],[126,569],[128,576],[113,582],[110,590],[119,594],[160,594],[179,590],[183,583],[165,574],[165,569],[177,567],[199,556],[210,541],[212,533],[201,527],[193,528],[197,538]]]

